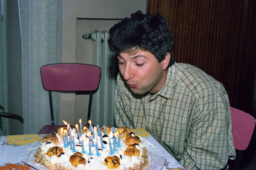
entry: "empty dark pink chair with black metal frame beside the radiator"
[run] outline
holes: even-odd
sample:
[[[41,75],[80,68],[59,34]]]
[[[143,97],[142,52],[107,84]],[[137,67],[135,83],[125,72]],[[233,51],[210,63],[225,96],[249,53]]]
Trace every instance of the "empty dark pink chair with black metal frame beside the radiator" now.
[[[41,67],[40,73],[43,87],[49,91],[52,124],[42,127],[38,134],[50,134],[63,126],[54,124],[52,91],[89,92],[88,119],[90,119],[93,92],[99,87],[100,67],[77,63],[47,64]]]

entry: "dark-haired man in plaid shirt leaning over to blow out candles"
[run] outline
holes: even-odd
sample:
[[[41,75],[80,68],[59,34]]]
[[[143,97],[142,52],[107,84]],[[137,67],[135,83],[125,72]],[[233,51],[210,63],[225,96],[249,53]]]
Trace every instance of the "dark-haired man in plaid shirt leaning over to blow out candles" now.
[[[186,169],[223,169],[234,159],[227,92],[189,64],[174,62],[164,18],[138,11],[109,31],[120,73],[116,127],[144,128]]]

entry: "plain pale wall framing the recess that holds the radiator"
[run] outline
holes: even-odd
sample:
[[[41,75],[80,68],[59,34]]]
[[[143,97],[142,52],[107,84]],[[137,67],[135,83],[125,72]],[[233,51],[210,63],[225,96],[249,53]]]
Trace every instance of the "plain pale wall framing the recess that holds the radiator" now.
[[[111,18],[122,19],[130,17],[131,13],[147,9],[147,0],[63,0],[63,40],[62,62],[76,62],[76,22],[77,18]],[[88,56],[92,57],[92,56]],[[74,94],[61,93],[60,123],[68,120],[70,124],[77,123],[76,96]],[[87,110],[86,110],[87,111]]]

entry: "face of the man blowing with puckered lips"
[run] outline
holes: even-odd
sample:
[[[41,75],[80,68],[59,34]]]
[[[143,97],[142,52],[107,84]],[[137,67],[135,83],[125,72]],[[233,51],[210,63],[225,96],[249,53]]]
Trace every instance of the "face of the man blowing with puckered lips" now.
[[[152,53],[140,49],[133,53],[121,52],[117,58],[120,73],[134,94],[155,94],[164,86],[166,59],[158,62]]]

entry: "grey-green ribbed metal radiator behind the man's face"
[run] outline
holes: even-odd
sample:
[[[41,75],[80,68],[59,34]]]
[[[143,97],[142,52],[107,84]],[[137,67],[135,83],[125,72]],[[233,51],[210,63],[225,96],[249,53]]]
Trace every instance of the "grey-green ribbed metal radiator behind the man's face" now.
[[[93,41],[93,64],[101,68],[99,89],[93,94],[92,124],[113,125],[114,95],[117,74],[117,60],[108,48],[109,33],[94,31],[84,34]]]

